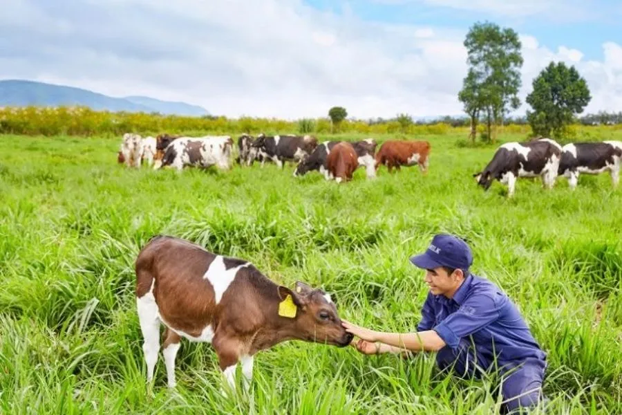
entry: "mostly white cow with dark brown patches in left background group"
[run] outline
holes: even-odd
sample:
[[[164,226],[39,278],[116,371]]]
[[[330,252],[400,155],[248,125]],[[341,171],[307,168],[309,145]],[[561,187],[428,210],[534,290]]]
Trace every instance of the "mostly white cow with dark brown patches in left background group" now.
[[[231,166],[231,136],[179,137],[164,150],[162,163],[155,165],[160,169],[168,165],[178,172],[185,166],[207,168],[216,165],[218,169],[228,170]]]

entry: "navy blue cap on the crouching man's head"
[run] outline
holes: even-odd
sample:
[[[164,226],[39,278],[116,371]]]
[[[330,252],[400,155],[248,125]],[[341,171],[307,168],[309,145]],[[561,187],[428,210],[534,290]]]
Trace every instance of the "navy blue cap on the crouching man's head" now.
[[[410,259],[415,266],[424,269],[447,266],[468,270],[473,264],[473,253],[462,239],[450,234],[437,234],[426,252],[413,255]]]

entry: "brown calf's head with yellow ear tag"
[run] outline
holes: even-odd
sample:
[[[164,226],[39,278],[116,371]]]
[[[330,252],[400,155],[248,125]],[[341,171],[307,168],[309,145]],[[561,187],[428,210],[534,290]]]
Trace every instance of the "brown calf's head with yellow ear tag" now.
[[[279,286],[279,297],[283,301],[281,309],[290,312],[283,313],[283,317],[292,319],[296,338],[339,347],[346,347],[352,342],[354,336],[341,326],[341,318],[330,295],[303,282],[296,282],[293,291]]]

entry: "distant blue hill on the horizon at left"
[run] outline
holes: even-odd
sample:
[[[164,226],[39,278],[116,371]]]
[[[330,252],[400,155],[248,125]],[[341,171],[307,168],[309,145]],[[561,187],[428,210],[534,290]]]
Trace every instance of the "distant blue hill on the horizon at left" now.
[[[159,112],[180,116],[205,116],[202,107],[185,102],[169,102],[149,97],[115,98],[73,86],[26,80],[0,80],[0,107],[36,105],[82,105],[95,111]]]

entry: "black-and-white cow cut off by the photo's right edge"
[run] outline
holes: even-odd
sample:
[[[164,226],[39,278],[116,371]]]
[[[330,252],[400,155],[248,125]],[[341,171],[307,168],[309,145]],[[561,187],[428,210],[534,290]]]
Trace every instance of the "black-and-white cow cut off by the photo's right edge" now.
[[[620,181],[622,164],[622,141],[574,142],[562,147],[558,174],[568,179],[572,190],[576,189],[579,174],[611,174],[614,187]]]

